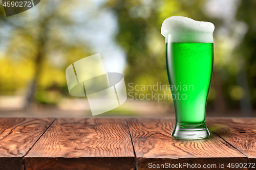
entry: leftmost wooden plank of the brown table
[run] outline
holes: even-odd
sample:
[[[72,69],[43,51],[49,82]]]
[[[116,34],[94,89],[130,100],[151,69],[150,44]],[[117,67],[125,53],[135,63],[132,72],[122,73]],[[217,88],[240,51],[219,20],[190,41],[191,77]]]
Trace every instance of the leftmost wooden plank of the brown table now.
[[[23,156],[54,118],[0,118],[0,169],[24,169]]]

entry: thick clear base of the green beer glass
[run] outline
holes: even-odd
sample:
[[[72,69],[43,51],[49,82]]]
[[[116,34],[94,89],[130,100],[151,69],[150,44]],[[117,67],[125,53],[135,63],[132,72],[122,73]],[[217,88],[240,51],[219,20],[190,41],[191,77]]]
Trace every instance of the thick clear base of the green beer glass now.
[[[194,140],[204,139],[210,136],[205,124],[200,125],[181,125],[176,124],[172,136],[177,139]]]

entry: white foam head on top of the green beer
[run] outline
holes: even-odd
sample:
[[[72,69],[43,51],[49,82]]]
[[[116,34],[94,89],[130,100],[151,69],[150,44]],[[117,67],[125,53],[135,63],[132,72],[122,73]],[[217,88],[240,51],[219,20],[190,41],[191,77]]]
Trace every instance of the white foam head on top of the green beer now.
[[[161,34],[166,42],[212,43],[214,24],[183,16],[171,16],[163,21]]]

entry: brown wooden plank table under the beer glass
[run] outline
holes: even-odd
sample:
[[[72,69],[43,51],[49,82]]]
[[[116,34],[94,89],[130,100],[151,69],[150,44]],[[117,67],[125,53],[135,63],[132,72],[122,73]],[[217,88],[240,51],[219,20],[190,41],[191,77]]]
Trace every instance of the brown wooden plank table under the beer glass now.
[[[256,169],[256,118],[206,122],[209,138],[177,140],[170,118],[3,117],[0,169]]]

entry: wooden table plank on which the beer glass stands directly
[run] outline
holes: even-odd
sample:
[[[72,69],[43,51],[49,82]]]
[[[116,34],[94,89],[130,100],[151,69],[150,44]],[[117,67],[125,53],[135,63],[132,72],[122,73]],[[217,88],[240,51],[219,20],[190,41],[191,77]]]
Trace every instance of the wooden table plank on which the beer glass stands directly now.
[[[148,169],[152,164],[219,164],[229,162],[246,163],[245,155],[234,149],[219,136],[211,133],[207,139],[177,140],[170,134],[174,119],[131,118],[128,125],[137,157],[138,169]],[[177,169],[190,169],[188,166]],[[204,169],[212,169],[204,168]]]

